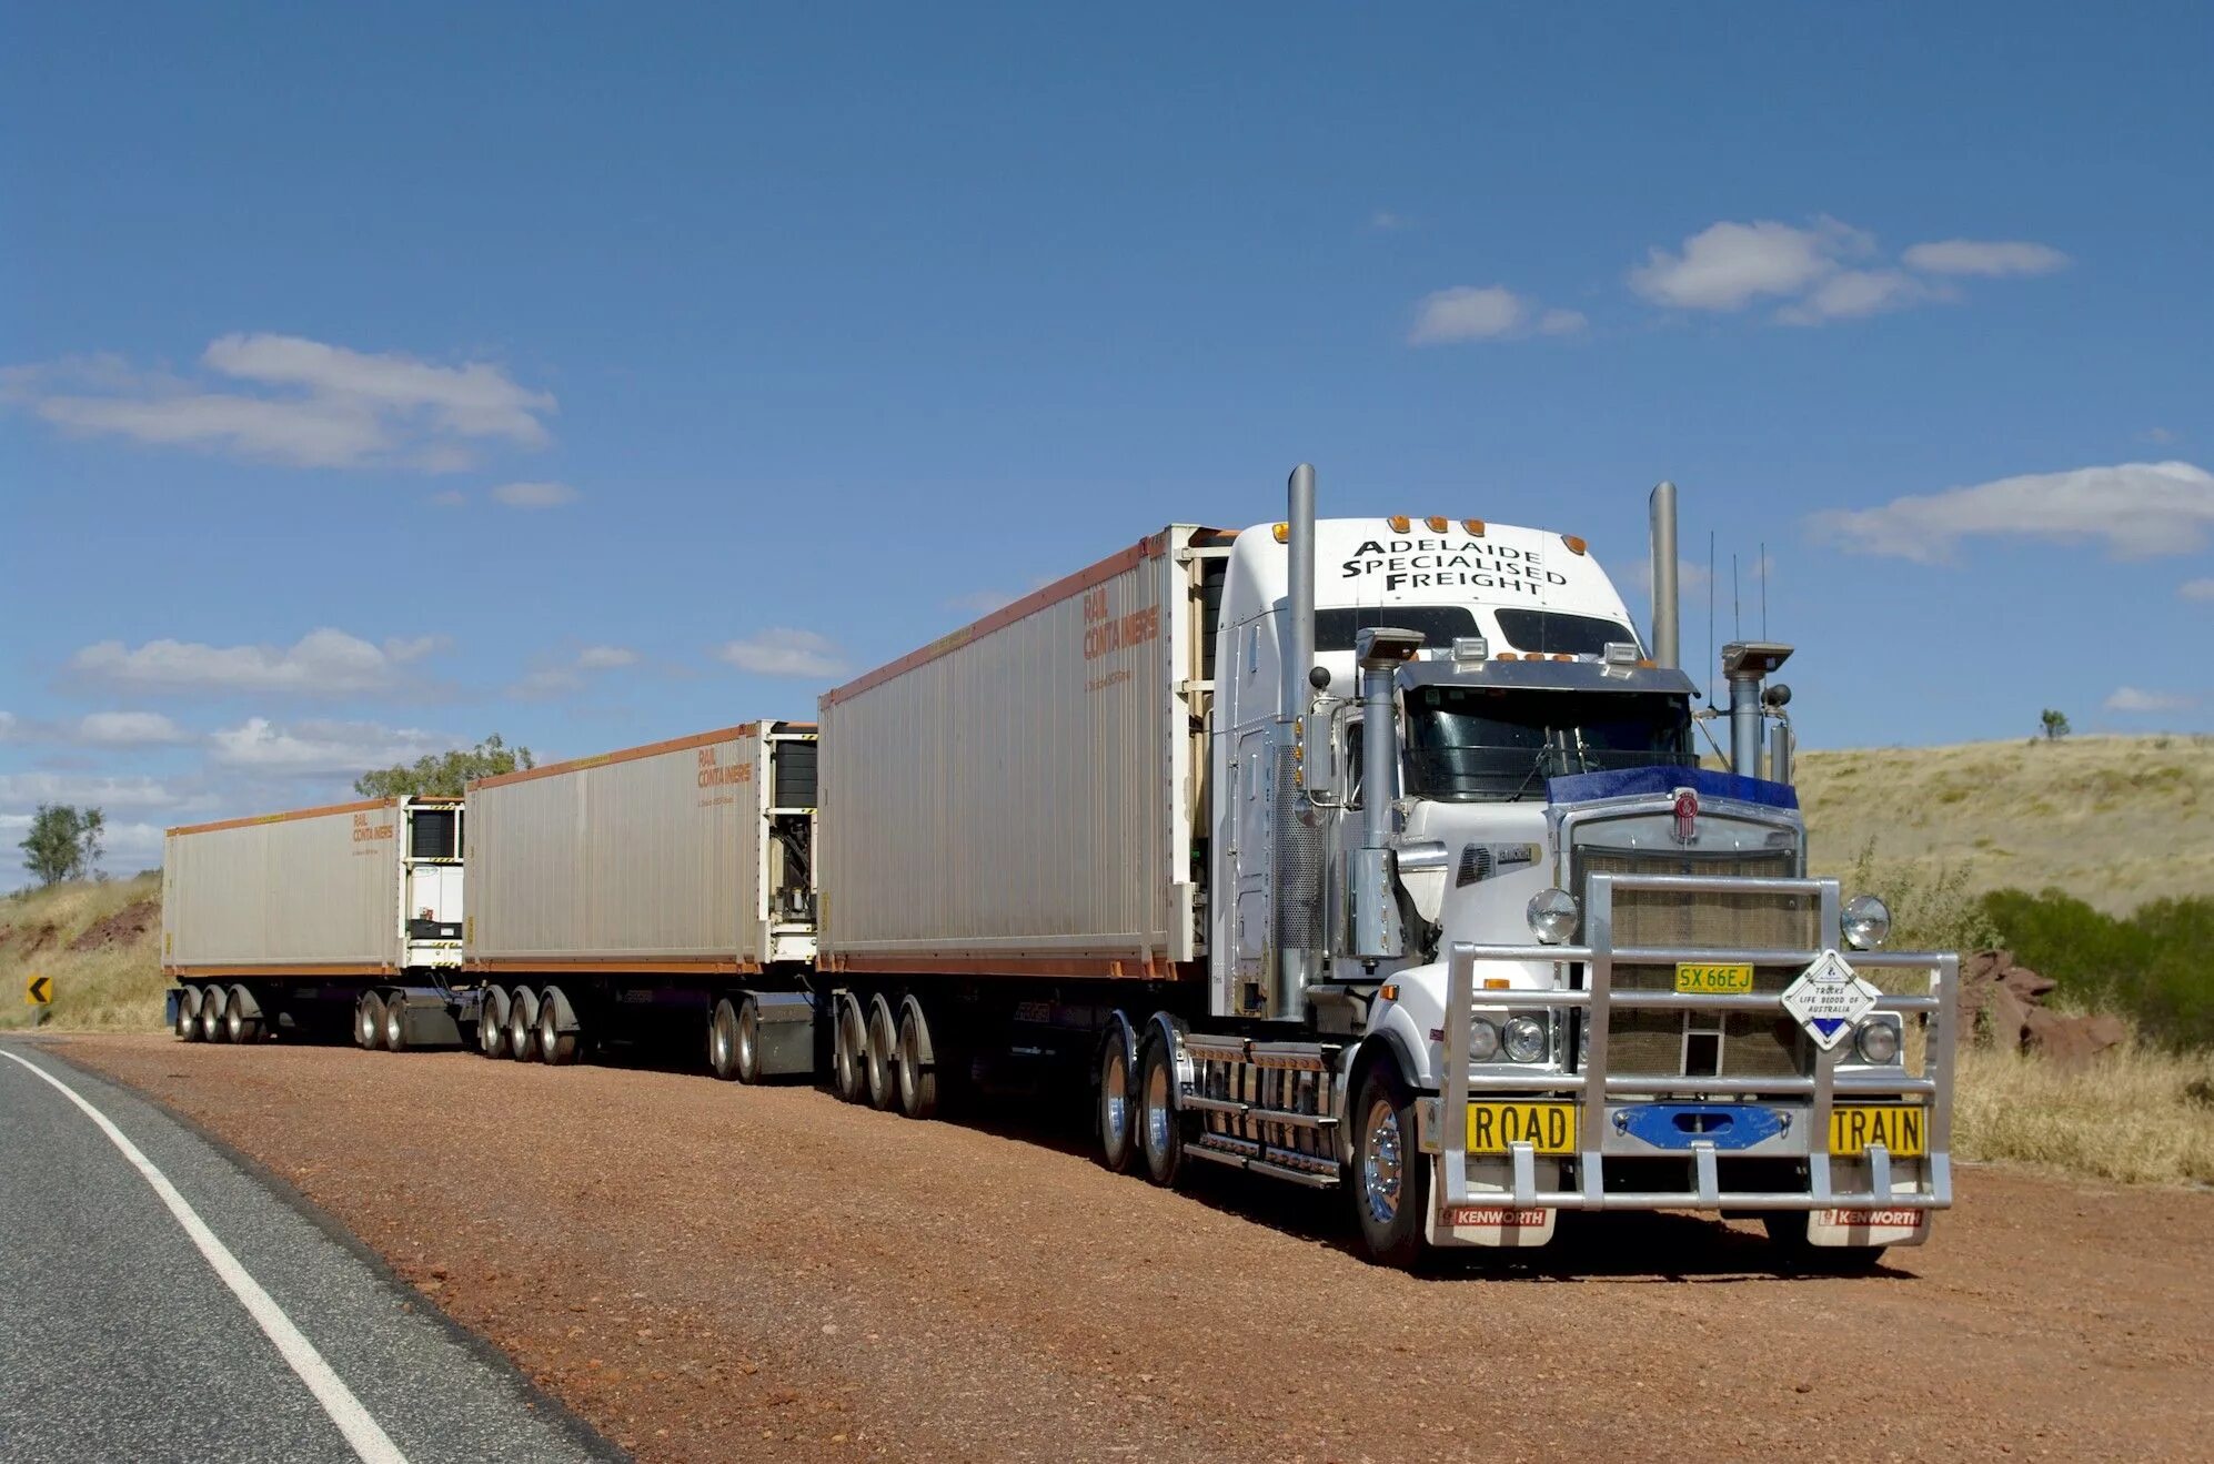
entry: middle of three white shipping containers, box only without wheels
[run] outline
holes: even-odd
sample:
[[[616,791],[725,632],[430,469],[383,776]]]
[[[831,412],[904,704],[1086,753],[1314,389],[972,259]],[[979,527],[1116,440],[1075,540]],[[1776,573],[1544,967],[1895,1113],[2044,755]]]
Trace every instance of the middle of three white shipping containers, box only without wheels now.
[[[815,729],[751,722],[469,786],[467,970],[757,975],[815,959]]]

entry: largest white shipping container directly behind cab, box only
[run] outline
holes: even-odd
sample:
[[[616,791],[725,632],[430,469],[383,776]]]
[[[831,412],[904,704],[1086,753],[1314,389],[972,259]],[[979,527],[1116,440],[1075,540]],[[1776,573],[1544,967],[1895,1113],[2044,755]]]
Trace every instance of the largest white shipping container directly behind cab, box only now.
[[[1227,545],[1171,525],[821,698],[826,970],[1202,975]]]

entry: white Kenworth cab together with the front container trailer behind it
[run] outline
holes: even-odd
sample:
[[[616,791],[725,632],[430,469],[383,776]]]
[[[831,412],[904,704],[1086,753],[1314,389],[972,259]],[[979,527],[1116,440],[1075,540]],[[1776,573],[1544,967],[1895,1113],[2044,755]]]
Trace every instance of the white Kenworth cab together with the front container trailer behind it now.
[[[1924,1240],[1957,957],[1807,877],[1760,775],[1789,647],[1729,647],[1700,766],[1674,487],[1647,645],[1572,534],[1317,523],[1313,483],[824,695],[835,1087],[928,1114],[939,1072],[1074,1045],[1109,1167],[1342,1187],[1386,1262],[1563,1209],[1758,1214],[1831,1265]]]

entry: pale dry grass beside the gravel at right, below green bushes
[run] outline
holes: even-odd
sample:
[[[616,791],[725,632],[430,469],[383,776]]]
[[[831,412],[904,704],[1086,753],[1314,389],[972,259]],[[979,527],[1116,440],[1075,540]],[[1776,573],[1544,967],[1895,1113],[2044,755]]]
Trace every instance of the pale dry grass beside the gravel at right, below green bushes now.
[[[2130,1043],[2061,1068],[1968,1048],[1953,1149],[2125,1185],[2214,1185],[2214,1052]]]

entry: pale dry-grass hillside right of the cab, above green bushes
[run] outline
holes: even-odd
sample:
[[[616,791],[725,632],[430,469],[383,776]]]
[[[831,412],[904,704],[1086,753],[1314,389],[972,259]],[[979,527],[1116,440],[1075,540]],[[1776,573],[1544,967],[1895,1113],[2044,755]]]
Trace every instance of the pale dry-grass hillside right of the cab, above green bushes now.
[[[1800,753],[1813,866],[1966,870],[1973,893],[2059,886],[2128,915],[2214,888],[2214,738],[2066,738]]]

